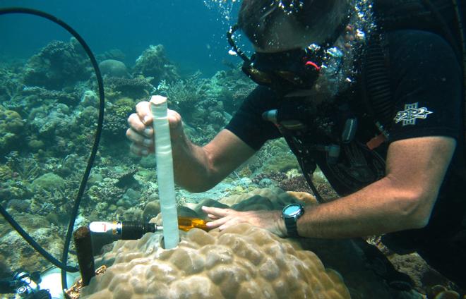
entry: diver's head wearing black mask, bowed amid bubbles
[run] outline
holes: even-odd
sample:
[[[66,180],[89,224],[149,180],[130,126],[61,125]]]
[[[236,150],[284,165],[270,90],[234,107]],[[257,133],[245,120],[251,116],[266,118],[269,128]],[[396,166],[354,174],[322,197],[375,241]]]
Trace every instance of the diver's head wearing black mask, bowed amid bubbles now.
[[[345,34],[350,7],[349,0],[244,0],[229,37],[241,29],[256,53],[249,59],[229,42],[256,83],[285,93],[311,90],[324,63],[341,54],[329,49]]]

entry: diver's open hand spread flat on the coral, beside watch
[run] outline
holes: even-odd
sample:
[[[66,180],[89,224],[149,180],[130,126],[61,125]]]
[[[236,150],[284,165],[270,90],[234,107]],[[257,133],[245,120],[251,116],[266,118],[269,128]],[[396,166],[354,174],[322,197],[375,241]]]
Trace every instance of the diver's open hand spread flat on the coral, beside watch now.
[[[220,209],[217,207],[202,207],[210,219],[207,226],[209,228],[223,229],[241,223],[249,223],[253,226],[264,228],[279,237],[287,236],[285,221],[282,219],[280,211],[245,211],[239,212],[234,209]]]

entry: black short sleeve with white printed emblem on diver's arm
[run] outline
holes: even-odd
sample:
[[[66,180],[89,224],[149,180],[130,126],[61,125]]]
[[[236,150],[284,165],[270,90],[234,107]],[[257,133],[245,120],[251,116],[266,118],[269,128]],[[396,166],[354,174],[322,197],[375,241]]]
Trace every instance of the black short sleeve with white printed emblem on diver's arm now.
[[[424,136],[458,139],[462,73],[455,53],[430,32],[393,32],[390,78],[395,101],[390,142]]]

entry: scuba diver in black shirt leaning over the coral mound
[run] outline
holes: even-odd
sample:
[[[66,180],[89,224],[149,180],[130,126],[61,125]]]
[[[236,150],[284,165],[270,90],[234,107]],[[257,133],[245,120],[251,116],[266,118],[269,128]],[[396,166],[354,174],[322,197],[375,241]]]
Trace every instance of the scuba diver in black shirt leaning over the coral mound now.
[[[203,147],[169,111],[175,180],[203,192],[284,137],[320,204],[203,207],[208,226],[247,222],[281,237],[383,235],[388,248],[418,252],[466,288],[460,2],[369,2],[242,1],[229,43],[258,87]],[[237,47],[236,30],[253,44],[251,57]],[[128,121],[131,151],[153,152],[149,103],[138,103]],[[316,192],[316,166],[340,197]]]

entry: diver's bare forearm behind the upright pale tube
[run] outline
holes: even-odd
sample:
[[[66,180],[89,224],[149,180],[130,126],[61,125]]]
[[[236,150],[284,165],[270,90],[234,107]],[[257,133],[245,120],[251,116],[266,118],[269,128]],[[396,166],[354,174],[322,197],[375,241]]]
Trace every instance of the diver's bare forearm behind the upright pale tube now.
[[[222,181],[254,152],[226,129],[204,147],[194,145],[184,135],[173,145],[175,181],[191,192],[203,192]]]

